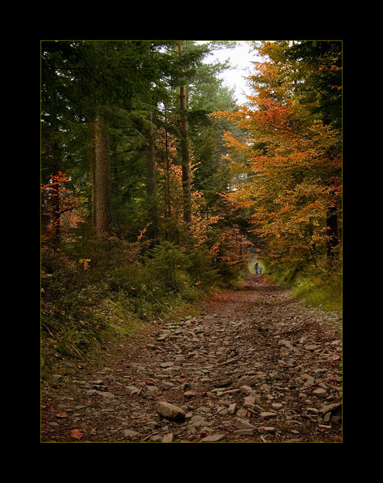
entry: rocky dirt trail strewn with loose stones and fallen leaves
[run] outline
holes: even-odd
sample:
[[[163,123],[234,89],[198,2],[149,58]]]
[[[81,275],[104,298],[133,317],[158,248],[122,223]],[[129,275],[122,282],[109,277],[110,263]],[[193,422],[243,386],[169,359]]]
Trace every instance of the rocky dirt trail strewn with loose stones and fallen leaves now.
[[[106,366],[55,375],[41,442],[342,442],[341,326],[249,275],[197,317],[147,324]]]

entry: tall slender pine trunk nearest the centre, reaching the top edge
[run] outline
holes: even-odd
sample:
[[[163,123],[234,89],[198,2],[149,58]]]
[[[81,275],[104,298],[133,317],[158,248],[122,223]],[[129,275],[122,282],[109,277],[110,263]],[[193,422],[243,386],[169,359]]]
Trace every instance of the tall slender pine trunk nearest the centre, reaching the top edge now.
[[[182,56],[182,42],[178,42],[178,55]],[[181,79],[182,80],[182,79]],[[189,148],[188,148],[188,118],[186,87],[183,83],[179,85],[179,109],[181,124],[181,167],[182,167],[182,189],[184,193],[184,222],[192,221],[191,192],[190,192],[190,167],[189,167]]]

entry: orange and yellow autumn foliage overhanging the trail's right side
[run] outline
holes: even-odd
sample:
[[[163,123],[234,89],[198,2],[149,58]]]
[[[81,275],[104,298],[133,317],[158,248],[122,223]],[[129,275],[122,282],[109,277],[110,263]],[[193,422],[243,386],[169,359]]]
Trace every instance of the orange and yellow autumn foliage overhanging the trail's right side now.
[[[259,51],[275,59],[278,48],[266,42]],[[244,132],[242,139],[224,135],[240,182],[223,196],[234,209],[251,210],[261,256],[315,263],[328,240],[328,212],[342,197],[340,132],[302,103],[283,63],[266,57],[250,79],[256,95],[248,106],[213,114]]]

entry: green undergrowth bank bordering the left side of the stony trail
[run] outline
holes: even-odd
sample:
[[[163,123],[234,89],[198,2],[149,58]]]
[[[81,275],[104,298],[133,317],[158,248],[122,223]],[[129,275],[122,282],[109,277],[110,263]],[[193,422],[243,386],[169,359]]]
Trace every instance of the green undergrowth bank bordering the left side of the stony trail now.
[[[104,250],[104,247],[103,247]],[[131,250],[130,250],[131,252]],[[130,254],[129,252],[129,254]],[[115,334],[187,309],[224,284],[208,250],[161,242],[135,261],[118,250],[100,262],[44,251],[41,257],[41,357],[84,357]],[[82,262],[81,262],[82,260]],[[225,282],[226,283],[226,282]]]

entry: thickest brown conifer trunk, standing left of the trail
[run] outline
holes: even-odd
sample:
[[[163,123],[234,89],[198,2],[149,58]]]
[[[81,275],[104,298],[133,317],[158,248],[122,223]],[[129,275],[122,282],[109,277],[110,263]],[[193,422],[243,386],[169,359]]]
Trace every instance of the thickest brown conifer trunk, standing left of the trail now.
[[[92,219],[99,235],[112,233],[110,152],[106,122],[97,114],[92,122],[90,172],[92,175]]]

